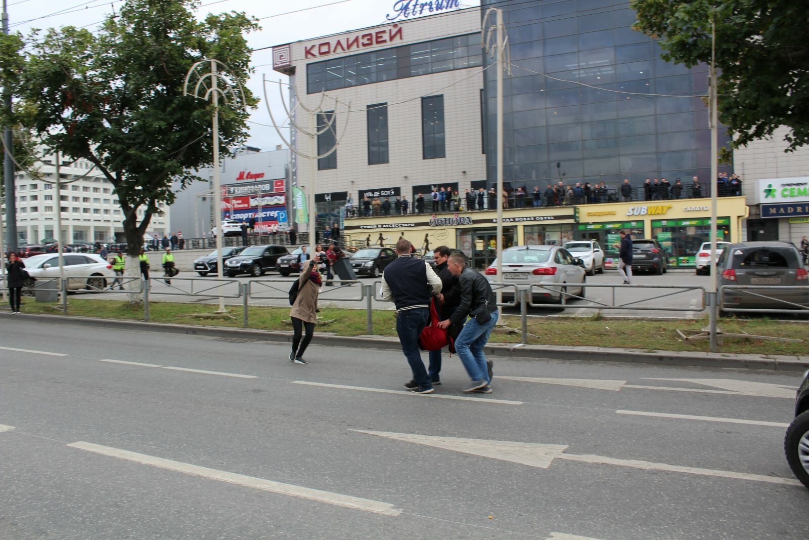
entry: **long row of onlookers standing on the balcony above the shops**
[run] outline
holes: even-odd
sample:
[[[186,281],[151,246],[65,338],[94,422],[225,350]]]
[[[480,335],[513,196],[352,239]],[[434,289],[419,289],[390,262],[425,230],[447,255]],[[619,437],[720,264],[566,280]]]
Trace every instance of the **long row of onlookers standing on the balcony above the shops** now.
[[[527,189],[527,188],[525,188]],[[599,204],[604,202],[631,201],[663,201],[680,198],[703,198],[710,194],[709,185],[693,176],[690,182],[683,183],[680,178],[672,184],[665,178],[646,178],[642,187],[636,188],[625,179],[617,187],[608,187],[604,182],[576,182],[565,185],[559,181],[556,185],[548,184],[545,189],[535,185],[531,192],[523,187],[513,190],[504,189],[501,194],[502,207],[527,208],[540,206],[576,206],[580,204]],[[728,176],[720,172],[717,178],[717,194],[719,197],[733,197],[742,194],[742,180],[737,174]],[[497,187],[492,186],[487,192],[485,188],[477,191],[458,190],[436,186],[430,193],[417,193],[413,201],[407,197],[396,196],[394,200],[385,198],[363,198],[359,204],[349,196],[345,203],[345,216],[349,218],[378,217],[383,215],[438,214],[440,212],[460,212],[475,210],[494,210],[498,204]]]

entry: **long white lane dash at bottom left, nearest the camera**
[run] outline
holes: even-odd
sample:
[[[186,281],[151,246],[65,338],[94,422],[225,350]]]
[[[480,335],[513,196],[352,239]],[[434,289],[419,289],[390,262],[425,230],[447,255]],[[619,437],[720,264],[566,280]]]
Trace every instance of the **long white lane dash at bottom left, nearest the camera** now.
[[[374,512],[383,514],[385,516],[398,516],[401,513],[400,510],[393,508],[392,504],[382,503],[378,500],[361,499],[359,497],[352,497],[350,495],[332,493],[331,491],[320,491],[311,489],[309,487],[273,482],[273,480],[265,480],[264,478],[229,473],[225,470],[209,469],[208,467],[183,463],[182,461],[173,461],[170,459],[163,459],[162,457],[149,456],[143,453],[114,449],[109,446],[102,446],[100,444],[78,441],[68,444],[68,446],[75,449],[87,450],[88,452],[100,453],[104,456],[135,461],[137,463],[155,466],[161,469],[173,470],[185,474],[194,474],[203,478],[211,478],[213,480],[237,484],[239,486],[252,487],[262,491],[278,493],[280,495],[290,495],[308,500],[316,500],[322,503],[335,504],[344,508],[354,508],[355,510]]]

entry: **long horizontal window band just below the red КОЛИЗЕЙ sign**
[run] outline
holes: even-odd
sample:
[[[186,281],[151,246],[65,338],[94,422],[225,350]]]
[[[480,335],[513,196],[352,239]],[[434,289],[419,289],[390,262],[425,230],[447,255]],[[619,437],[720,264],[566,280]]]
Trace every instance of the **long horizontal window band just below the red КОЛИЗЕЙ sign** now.
[[[481,35],[453,36],[307,64],[307,94],[481,66]]]

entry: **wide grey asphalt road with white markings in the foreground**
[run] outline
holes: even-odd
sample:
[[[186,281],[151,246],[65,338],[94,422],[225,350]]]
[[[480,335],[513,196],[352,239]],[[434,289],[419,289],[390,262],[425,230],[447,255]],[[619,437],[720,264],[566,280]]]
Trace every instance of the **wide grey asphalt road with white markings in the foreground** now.
[[[4,540],[809,530],[781,449],[794,374],[493,358],[533,380],[467,395],[453,357],[422,396],[389,351],[299,365],[286,344],[11,317],[0,347]]]

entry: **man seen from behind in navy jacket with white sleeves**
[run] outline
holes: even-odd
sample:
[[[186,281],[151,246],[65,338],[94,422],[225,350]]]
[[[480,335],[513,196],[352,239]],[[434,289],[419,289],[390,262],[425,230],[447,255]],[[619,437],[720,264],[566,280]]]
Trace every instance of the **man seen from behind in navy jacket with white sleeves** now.
[[[430,322],[430,296],[441,292],[441,279],[426,261],[413,257],[411,247],[404,238],[396,242],[398,257],[382,274],[382,299],[396,304],[396,334],[415,382],[405,388],[414,393],[433,393],[433,383],[418,350],[418,337]]]

